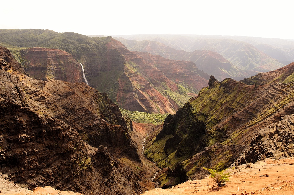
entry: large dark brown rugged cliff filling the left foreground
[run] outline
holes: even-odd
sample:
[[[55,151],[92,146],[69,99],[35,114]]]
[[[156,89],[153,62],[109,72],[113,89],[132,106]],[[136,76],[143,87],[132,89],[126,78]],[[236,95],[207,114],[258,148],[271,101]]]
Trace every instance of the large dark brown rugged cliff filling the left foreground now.
[[[30,189],[139,193],[136,175],[119,160],[140,163],[118,106],[84,83],[27,77],[9,68],[17,62],[2,58],[8,50],[0,52],[6,64],[0,70],[0,172]]]

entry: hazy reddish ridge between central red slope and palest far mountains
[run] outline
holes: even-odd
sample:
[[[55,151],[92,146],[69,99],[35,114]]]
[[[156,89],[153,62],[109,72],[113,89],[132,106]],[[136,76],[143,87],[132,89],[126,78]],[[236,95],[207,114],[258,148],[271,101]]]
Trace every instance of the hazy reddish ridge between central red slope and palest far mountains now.
[[[194,62],[199,70],[202,70],[209,75],[214,75],[220,81],[228,77],[240,80],[256,74],[256,72],[248,74],[247,72],[238,69],[220,54],[208,50],[186,52],[184,50],[176,50],[156,41],[135,41],[120,38],[118,38],[118,40],[126,44],[131,51],[149,52],[150,54],[160,55],[167,59]],[[206,78],[199,70],[191,73],[195,74],[195,76],[200,75],[201,77]]]

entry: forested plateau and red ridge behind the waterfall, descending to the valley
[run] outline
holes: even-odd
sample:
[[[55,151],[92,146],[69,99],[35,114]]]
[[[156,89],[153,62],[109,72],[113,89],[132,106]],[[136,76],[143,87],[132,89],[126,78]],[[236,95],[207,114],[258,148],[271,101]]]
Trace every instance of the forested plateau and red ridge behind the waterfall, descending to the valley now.
[[[106,92],[119,106],[131,111],[175,113],[186,100],[195,96],[198,90],[206,86],[208,82],[208,80],[202,79],[201,82],[198,82],[199,86],[196,87],[191,87],[187,83],[176,84],[176,81],[166,78],[155,66],[147,65],[144,60],[141,60],[141,57],[130,52],[123,44],[111,37],[90,38],[70,32],[56,33],[50,30],[34,29],[1,30],[0,34],[2,34],[0,42],[9,44],[12,49],[17,49],[13,48],[16,46],[46,47],[69,52],[78,63],[83,64],[85,76],[90,86],[101,92]],[[24,39],[22,40],[21,37],[24,37]],[[35,41],[29,42],[30,39]],[[20,43],[15,40],[19,40]],[[26,58],[26,56],[30,58],[27,54],[22,54],[22,57]],[[47,61],[52,61],[52,59],[47,58]],[[72,67],[73,69],[77,69],[77,62],[74,62],[76,67]],[[36,64],[33,65],[32,61],[30,63],[32,64],[30,68],[36,66]],[[44,61],[44,64],[48,63],[51,62]],[[64,66],[60,66],[58,63],[46,65],[45,69],[48,69],[46,72],[50,77],[65,80],[64,74],[66,72],[64,70],[66,69],[64,67],[61,70],[59,69],[59,72],[55,71]],[[147,66],[152,68],[153,75],[150,74],[149,70],[151,69],[144,68]],[[56,74],[63,74],[63,76],[52,75],[54,71],[50,73],[50,70],[53,69]],[[40,71],[42,72],[42,70]],[[36,74],[43,74],[41,72],[36,72]],[[204,73],[201,75],[208,77]],[[201,77],[201,75],[199,76]]]

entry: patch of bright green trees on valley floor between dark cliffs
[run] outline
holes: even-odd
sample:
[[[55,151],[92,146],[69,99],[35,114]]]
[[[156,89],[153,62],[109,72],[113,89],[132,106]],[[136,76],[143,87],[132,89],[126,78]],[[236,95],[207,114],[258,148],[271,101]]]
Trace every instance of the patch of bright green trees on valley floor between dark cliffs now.
[[[168,114],[150,114],[138,111],[129,111],[120,108],[122,115],[128,115],[129,118],[136,123],[152,123],[152,124],[160,124],[163,123],[165,117]]]

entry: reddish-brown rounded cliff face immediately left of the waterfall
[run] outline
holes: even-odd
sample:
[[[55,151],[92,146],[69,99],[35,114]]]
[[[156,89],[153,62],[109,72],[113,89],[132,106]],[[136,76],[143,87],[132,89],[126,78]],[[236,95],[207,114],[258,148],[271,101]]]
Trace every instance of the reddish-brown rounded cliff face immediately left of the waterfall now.
[[[74,60],[72,54],[59,49],[40,47],[29,48],[24,57],[30,61],[25,71],[30,77],[39,80],[64,80],[67,82],[81,82],[82,68]]]

